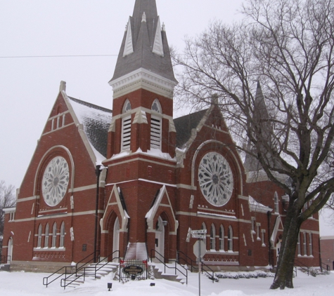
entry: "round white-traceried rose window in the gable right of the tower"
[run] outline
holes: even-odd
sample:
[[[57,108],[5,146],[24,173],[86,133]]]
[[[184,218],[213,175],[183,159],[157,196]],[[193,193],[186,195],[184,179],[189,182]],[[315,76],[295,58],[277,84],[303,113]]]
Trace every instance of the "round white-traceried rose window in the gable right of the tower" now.
[[[213,206],[224,206],[231,199],[233,175],[221,154],[209,152],[203,156],[198,168],[198,182],[205,199]]]

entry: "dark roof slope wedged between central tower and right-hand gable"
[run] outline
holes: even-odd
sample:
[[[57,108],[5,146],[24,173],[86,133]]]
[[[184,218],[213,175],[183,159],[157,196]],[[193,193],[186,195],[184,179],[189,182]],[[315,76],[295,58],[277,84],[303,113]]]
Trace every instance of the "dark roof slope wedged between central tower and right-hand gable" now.
[[[183,147],[191,137],[191,130],[197,128],[208,109],[174,119],[176,129],[176,147]]]

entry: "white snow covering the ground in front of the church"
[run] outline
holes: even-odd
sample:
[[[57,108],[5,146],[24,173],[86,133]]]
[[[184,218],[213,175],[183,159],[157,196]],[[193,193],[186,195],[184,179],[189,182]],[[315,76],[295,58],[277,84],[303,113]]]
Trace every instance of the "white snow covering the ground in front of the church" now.
[[[113,281],[109,274],[101,280],[88,280],[78,288],[60,288],[59,283],[52,283],[46,288],[43,277],[49,274],[0,271],[1,296],[193,296],[198,295],[198,274],[189,276],[188,285],[166,280],[129,281],[119,283]],[[206,276],[201,277],[201,296],[323,296],[333,295],[334,273],[328,276],[307,276],[298,271],[294,278],[294,289],[269,290],[273,278],[240,278],[220,279],[212,283]],[[113,283],[112,291],[108,291],[107,283]],[[155,283],[155,287],[150,287]]]

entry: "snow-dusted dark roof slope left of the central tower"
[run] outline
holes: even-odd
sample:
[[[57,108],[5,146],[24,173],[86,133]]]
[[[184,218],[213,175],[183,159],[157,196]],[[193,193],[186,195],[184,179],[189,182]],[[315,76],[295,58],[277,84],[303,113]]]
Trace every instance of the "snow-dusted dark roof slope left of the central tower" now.
[[[112,110],[74,97],[68,97],[68,99],[91,146],[105,159],[107,156],[108,129],[113,116]]]

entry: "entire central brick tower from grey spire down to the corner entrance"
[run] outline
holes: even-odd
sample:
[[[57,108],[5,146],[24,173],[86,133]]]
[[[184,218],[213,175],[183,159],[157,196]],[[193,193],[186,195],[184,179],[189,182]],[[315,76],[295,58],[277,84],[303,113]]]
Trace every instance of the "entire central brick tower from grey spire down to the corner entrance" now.
[[[120,256],[141,259],[138,254],[155,248],[158,216],[148,212],[162,186],[170,184],[161,199],[174,196],[176,188],[173,92],[177,81],[155,0],[136,0],[109,84],[113,87],[113,120],[103,162],[108,167],[105,221],[114,221],[116,215],[120,221]],[[167,219],[165,213],[157,215]],[[170,216],[174,217],[172,212]],[[172,223],[168,225],[172,229]],[[112,222],[103,231],[107,245]],[[176,231],[171,230],[170,236],[166,243],[176,254]]]

